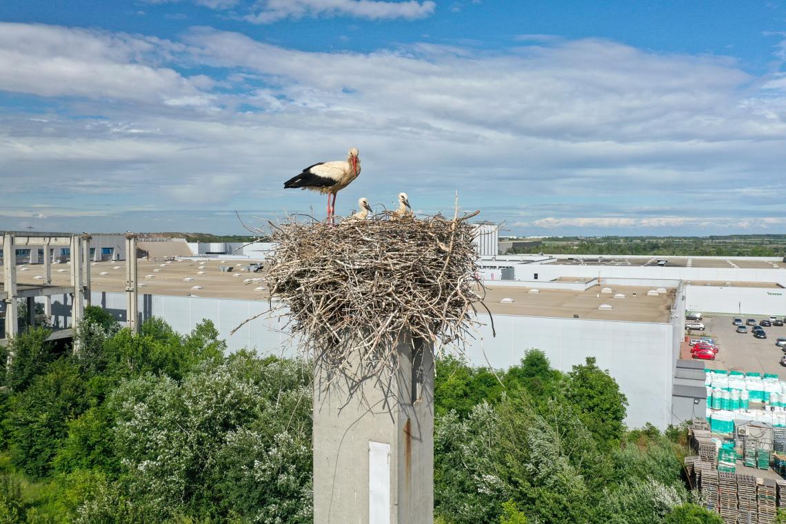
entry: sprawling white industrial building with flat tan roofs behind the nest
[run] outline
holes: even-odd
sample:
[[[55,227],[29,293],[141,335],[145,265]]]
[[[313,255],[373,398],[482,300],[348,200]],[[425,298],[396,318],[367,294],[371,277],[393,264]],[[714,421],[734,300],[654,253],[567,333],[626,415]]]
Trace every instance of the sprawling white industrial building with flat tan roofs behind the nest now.
[[[498,242],[496,225],[477,227],[485,236],[476,244],[478,250],[493,251]],[[45,240],[27,242],[43,245]],[[32,249],[28,244],[15,244],[14,252]],[[50,250],[63,247],[50,245]],[[114,240],[112,247],[119,247],[113,255],[124,256],[122,242]],[[140,240],[138,252],[146,259],[138,262],[138,315],[163,317],[179,332],[189,332],[208,318],[230,350],[254,346],[266,353],[291,354],[292,344],[280,321],[264,314],[268,306],[260,300],[266,299],[263,283],[248,268],[248,261],[264,260],[272,248],[263,243]],[[95,251],[91,253],[92,293],[85,299],[124,321],[123,271],[109,260],[95,262]],[[659,264],[663,260],[667,262]],[[222,271],[219,266],[230,269]],[[479,313],[483,325],[467,355],[474,365],[507,368],[518,364],[527,350],[537,348],[555,368],[566,372],[593,356],[628,398],[626,423],[637,427],[649,422],[663,428],[702,413],[706,406],[706,393],[695,383],[696,370],[703,372],[703,364],[680,360],[685,310],[786,315],[784,266],[777,258],[480,255],[478,276],[487,287],[484,302],[497,336],[491,335],[492,317]],[[45,277],[39,273],[44,273],[43,264],[18,273],[19,289],[23,284],[47,282],[62,288],[50,295],[52,318],[69,326],[70,271],[53,272],[45,282],[34,280]],[[34,300],[45,298],[39,295]],[[261,317],[230,335],[259,313]]]

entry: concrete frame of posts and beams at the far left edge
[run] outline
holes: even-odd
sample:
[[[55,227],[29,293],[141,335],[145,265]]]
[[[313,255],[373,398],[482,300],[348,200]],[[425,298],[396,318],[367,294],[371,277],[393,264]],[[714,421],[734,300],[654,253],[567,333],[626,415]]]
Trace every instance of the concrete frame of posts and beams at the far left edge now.
[[[3,288],[0,299],[5,305],[6,312],[6,338],[0,339],[0,344],[6,345],[8,339],[19,334],[17,320],[17,299],[28,300],[28,324],[35,325],[35,297],[43,297],[44,314],[47,318],[52,314],[52,295],[72,295],[72,328],[53,332],[50,339],[60,339],[71,336],[73,329],[83,317],[84,306],[90,302],[90,262],[85,254],[90,253],[90,235],[74,235],[72,233],[22,233],[2,232],[3,246]],[[48,254],[50,247],[68,247],[72,254],[71,285],[53,286],[51,257],[44,257],[44,284],[30,285],[17,284],[17,247],[29,248],[38,252],[43,247]],[[10,256],[9,256],[10,255]],[[9,363],[13,360],[13,353],[9,353]]]

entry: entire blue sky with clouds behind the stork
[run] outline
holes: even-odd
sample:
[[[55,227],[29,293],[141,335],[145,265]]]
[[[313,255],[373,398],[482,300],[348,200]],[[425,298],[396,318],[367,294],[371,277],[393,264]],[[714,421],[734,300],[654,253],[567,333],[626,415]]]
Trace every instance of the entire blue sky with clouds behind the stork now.
[[[601,6],[602,4],[602,6]],[[786,233],[786,2],[0,2],[0,229],[241,233],[340,193],[512,233]]]

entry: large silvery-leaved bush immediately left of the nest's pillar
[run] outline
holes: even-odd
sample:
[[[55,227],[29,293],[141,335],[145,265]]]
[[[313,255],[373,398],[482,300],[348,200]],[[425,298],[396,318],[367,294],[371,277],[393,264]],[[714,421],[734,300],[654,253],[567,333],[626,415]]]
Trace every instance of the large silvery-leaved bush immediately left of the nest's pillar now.
[[[81,518],[221,521],[234,512],[253,522],[310,522],[304,371],[294,361],[241,352],[222,365],[204,362],[181,383],[127,380],[108,400],[119,481],[87,501]]]

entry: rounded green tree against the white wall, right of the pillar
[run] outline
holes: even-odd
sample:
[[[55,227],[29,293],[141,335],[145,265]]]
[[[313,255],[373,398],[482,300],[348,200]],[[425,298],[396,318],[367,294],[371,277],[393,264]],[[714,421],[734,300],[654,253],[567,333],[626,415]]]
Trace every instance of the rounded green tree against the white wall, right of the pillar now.
[[[586,357],[585,365],[573,366],[565,394],[596,441],[612,449],[623,438],[628,401],[615,379],[595,362],[595,357]]]

